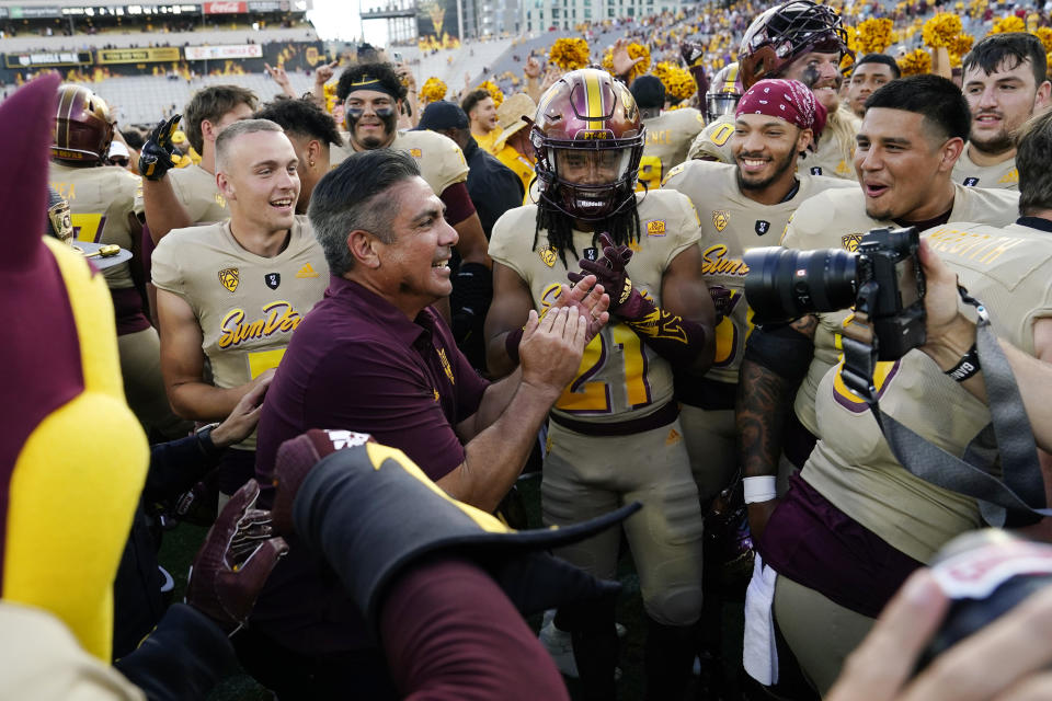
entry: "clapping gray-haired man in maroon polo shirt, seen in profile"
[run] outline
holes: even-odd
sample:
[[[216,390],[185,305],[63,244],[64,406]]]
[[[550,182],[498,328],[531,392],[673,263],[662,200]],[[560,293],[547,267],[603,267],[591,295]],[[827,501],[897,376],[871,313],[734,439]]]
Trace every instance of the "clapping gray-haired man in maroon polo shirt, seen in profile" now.
[[[396,149],[352,154],[315,188],[310,220],[332,275],[263,405],[261,480],[270,483],[282,443],[307,429],[367,432],[403,450],[450,496],[492,512],[606,322],[608,298],[588,281],[567,288],[563,306],[576,296],[584,313],[559,309],[540,322],[531,314],[522,368],[491,384],[433,308],[450,291],[457,232],[414,159]],[[253,627],[282,664],[265,656],[245,664],[281,698],[342,698],[348,688],[356,698],[395,698],[361,613],[302,548],[294,545],[268,581]]]

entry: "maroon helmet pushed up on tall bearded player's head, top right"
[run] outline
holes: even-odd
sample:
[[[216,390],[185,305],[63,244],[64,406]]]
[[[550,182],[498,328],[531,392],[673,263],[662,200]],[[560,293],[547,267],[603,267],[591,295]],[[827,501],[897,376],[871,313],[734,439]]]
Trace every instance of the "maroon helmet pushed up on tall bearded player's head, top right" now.
[[[836,12],[811,0],[789,0],[767,10],[745,30],[737,50],[742,88],[778,78],[798,56],[815,50],[855,55]]]

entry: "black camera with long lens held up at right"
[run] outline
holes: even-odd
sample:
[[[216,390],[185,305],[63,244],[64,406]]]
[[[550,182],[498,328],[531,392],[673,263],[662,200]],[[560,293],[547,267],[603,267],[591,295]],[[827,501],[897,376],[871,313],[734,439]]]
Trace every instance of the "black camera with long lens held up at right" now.
[[[745,299],[756,324],[854,306],[873,325],[880,360],[896,360],[925,341],[924,271],[917,230],[872,229],[856,252],[753,249],[744,255]]]

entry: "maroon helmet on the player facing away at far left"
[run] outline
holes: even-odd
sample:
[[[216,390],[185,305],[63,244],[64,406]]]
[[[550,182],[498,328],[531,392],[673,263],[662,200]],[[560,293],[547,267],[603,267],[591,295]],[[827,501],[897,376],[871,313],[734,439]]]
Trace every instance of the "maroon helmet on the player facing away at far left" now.
[[[114,120],[106,103],[80,85],[60,85],[52,139],[52,158],[71,163],[105,163]]]

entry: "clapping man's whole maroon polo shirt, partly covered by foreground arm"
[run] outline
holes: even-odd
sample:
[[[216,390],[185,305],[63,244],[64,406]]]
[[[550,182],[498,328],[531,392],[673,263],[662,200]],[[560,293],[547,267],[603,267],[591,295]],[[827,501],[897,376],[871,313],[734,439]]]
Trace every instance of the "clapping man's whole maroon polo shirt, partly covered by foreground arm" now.
[[[382,297],[333,276],[304,318],[266,392],[256,433],[256,474],[283,441],[309,428],[373,434],[400,448],[432,480],[464,462],[454,426],[485,391],[432,309],[410,321]],[[261,480],[268,492],[268,480]],[[268,502],[264,493],[260,499]],[[266,637],[308,657],[373,646],[364,620],[320,556],[295,536],[252,612]]]

